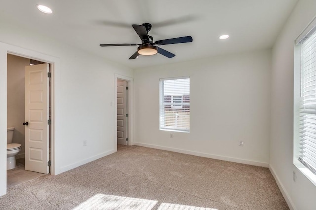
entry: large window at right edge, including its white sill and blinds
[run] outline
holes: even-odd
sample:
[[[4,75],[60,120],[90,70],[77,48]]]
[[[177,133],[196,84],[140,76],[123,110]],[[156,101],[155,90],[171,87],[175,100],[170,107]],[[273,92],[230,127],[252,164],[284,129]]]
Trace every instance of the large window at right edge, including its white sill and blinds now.
[[[294,68],[294,164],[316,185],[316,30],[309,29],[309,33],[297,43]]]

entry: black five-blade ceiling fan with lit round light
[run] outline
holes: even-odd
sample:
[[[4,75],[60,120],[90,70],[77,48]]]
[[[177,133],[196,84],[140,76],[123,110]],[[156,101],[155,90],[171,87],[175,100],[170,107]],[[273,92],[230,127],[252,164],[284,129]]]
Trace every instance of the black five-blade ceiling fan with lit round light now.
[[[170,38],[153,42],[153,37],[148,35],[148,32],[151,30],[152,25],[150,23],[143,23],[142,25],[132,25],[140,39],[142,40],[142,44],[100,44],[100,47],[112,47],[112,46],[139,46],[137,51],[129,58],[135,59],[138,58],[139,55],[155,55],[156,53],[160,53],[168,58],[172,58],[175,54],[166,51],[158,46],[154,45],[166,45],[166,44],[180,44],[180,43],[188,43],[192,42],[191,36],[184,36],[179,38]]]

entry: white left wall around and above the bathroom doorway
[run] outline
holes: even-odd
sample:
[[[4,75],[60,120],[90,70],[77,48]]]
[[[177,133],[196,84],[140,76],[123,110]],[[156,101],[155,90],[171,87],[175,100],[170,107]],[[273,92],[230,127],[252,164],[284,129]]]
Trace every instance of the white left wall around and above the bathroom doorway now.
[[[110,106],[114,74],[133,76],[129,68],[23,27],[0,23],[0,42],[6,43],[0,43],[0,196],[6,193],[7,44],[60,61],[55,72],[56,174],[116,151]]]

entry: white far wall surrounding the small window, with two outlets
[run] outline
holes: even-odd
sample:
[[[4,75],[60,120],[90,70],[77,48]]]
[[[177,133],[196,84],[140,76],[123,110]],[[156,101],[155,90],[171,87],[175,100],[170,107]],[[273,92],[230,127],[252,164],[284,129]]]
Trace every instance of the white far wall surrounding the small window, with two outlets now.
[[[190,76],[190,133],[160,131],[159,78],[179,76]],[[270,78],[270,50],[135,70],[135,144],[268,167]]]

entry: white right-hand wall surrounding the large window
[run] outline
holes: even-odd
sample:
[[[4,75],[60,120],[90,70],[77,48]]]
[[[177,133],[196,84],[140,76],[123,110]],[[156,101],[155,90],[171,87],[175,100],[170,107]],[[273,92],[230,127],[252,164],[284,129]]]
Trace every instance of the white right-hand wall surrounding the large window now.
[[[294,40],[315,15],[316,1],[300,0],[272,51],[270,169],[288,204],[296,210],[316,209],[316,187],[293,165]]]

